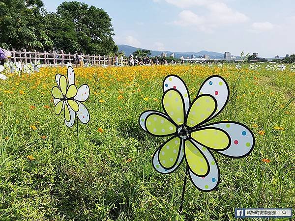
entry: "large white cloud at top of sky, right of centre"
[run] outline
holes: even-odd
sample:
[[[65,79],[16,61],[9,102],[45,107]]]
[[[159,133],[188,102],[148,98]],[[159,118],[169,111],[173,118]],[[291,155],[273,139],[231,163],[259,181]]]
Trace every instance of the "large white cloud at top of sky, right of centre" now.
[[[239,24],[249,20],[243,13],[228,7],[224,2],[217,2],[216,0],[166,0],[166,2],[174,4],[179,8],[204,7],[206,9],[204,15],[195,14],[191,9],[182,10],[173,24],[194,26],[205,32],[213,32],[216,27]]]

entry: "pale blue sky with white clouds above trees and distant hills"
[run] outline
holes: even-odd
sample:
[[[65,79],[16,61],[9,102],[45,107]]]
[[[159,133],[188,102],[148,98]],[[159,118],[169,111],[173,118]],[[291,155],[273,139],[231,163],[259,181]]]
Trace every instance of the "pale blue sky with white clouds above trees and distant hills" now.
[[[295,0],[78,1],[108,12],[117,44],[264,57],[295,53]],[[48,11],[56,11],[62,1],[43,2]]]

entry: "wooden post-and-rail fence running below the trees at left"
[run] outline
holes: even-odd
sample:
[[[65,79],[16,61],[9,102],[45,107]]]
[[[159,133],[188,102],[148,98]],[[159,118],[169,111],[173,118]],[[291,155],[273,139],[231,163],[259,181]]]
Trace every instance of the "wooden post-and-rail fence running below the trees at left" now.
[[[21,61],[24,63],[34,62],[34,60],[40,60],[43,64],[66,64],[67,62],[73,63],[74,55],[71,53],[64,54],[62,51],[60,53],[48,53],[44,52],[27,52],[26,49],[23,52],[18,52],[12,49],[11,51],[12,57],[11,59],[13,62]],[[120,60],[119,60],[120,62]],[[101,56],[101,55],[84,55],[84,64],[89,63],[92,65],[114,65],[115,64],[115,57],[111,56]],[[123,64],[128,64],[128,59],[123,59]]]

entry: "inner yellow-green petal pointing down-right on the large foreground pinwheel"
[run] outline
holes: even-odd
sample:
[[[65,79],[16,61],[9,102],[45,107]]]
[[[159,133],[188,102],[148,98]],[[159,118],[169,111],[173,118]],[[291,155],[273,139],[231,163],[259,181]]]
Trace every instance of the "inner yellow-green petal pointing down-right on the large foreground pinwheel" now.
[[[208,162],[200,150],[189,140],[185,140],[184,153],[190,170],[197,176],[205,176]]]

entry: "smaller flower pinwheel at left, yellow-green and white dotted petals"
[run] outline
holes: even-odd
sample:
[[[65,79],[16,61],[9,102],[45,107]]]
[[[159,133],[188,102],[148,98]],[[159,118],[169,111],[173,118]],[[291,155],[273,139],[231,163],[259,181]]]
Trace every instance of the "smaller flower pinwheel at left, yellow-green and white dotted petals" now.
[[[83,84],[77,89],[75,85],[75,72],[73,67],[67,69],[67,78],[57,74],[56,82],[58,86],[52,88],[52,96],[54,97],[55,112],[60,114],[64,109],[64,123],[67,127],[72,127],[75,117],[84,124],[90,119],[89,111],[81,103],[89,98],[90,90],[87,84]]]

